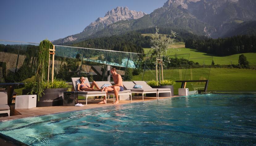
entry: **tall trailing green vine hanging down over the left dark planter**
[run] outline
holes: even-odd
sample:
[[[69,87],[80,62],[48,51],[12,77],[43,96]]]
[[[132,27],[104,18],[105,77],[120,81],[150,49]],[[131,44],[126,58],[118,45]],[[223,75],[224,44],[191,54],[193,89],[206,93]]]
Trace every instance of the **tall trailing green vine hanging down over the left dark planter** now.
[[[33,86],[31,94],[36,93],[37,99],[42,96],[44,87],[43,82],[47,80],[47,72],[49,65],[49,49],[53,49],[53,44],[49,40],[40,42],[39,51],[37,54],[37,72],[35,77],[36,86]]]

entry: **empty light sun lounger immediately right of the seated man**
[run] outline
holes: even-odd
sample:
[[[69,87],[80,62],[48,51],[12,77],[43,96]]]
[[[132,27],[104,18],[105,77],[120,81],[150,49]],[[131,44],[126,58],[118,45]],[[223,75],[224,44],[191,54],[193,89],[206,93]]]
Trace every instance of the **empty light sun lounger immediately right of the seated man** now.
[[[144,94],[147,93],[155,93],[157,97],[157,89],[149,89],[143,86],[142,89],[134,89],[133,86],[135,85],[132,81],[123,81],[124,88],[127,90],[131,90],[132,93],[139,93],[142,94],[142,100],[144,100]]]

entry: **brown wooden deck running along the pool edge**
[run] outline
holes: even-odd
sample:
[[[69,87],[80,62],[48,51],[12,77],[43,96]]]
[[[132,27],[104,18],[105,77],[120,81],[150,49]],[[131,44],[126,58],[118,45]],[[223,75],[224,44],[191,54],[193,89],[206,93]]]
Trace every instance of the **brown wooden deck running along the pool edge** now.
[[[177,96],[175,96],[175,97],[177,97]],[[163,98],[170,98],[170,97],[162,97],[162,98],[160,97],[159,99],[163,99]],[[156,98],[155,97],[144,97],[144,102],[150,101],[150,100],[156,100]],[[56,114],[56,113],[62,113],[62,112],[67,112],[67,111],[86,110],[86,109],[98,108],[98,107],[104,107],[104,106],[115,106],[113,104],[113,98],[107,99],[107,104],[97,104],[100,101],[102,101],[102,99],[95,99],[95,100],[88,99],[87,106],[85,105],[86,104],[85,100],[79,100],[79,103],[82,103],[85,106],[47,106],[47,107],[35,107],[35,108],[31,108],[31,109],[16,109],[16,110],[14,110],[15,115],[9,116],[9,117],[0,117],[0,121]],[[132,103],[135,103],[135,102],[143,102],[141,96],[133,96]],[[119,100],[119,104],[117,104],[117,105],[129,104],[129,103],[131,103],[130,100],[129,101],[128,100]],[[14,106],[11,106],[10,108],[14,109]]]

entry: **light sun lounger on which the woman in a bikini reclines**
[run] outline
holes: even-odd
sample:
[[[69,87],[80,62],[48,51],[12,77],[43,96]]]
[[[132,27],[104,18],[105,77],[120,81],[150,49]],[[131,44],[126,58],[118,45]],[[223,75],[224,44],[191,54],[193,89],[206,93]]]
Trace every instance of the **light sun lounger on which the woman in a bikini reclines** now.
[[[85,78],[86,78],[85,83],[88,83],[90,85],[90,82],[89,82],[88,78],[87,77],[85,77]],[[72,79],[73,87],[74,87],[75,91],[77,91],[77,87],[76,87],[77,80],[80,79],[80,78],[79,77],[71,77],[71,79]],[[88,97],[94,96],[94,99],[95,99],[95,96],[106,96],[106,98],[107,98],[107,94],[104,91],[78,91],[78,96],[84,96],[85,97],[86,105],[87,105],[87,98]],[[106,104],[107,104],[107,99],[106,99]]]

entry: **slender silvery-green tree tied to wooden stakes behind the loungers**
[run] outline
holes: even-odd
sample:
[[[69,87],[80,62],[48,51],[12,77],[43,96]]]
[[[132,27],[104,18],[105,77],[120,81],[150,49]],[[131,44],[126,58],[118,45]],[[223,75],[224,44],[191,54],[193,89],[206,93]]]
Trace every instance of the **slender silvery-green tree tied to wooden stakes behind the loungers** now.
[[[160,65],[164,65],[162,61],[162,56],[167,56],[168,48],[175,43],[176,32],[171,31],[169,37],[161,36],[159,33],[159,29],[156,27],[156,33],[153,36],[153,39],[150,40],[151,49],[149,53],[152,54],[152,57],[155,58],[155,65],[156,65],[156,76],[157,76],[157,65],[159,64],[159,85],[161,85],[160,79]],[[172,51],[174,48],[170,49]],[[166,57],[168,59],[169,57]]]

